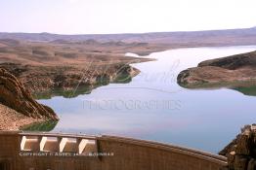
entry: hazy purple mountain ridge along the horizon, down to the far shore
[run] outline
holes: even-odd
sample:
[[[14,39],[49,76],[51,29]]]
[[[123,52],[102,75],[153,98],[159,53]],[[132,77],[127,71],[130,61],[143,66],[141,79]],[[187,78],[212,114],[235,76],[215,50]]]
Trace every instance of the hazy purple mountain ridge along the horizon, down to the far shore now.
[[[84,34],[61,35],[51,33],[0,33],[0,39],[54,44],[78,43],[99,45],[112,43],[148,43],[167,45],[171,48],[223,47],[256,45],[256,27],[244,29],[209,30],[192,32],[152,32],[131,34]]]

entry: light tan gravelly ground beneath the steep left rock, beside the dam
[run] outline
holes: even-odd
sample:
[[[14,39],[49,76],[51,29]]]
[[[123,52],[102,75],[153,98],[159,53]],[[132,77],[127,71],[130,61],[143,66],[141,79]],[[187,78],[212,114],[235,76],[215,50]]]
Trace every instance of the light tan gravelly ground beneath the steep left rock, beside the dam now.
[[[24,125],[42,120],[25,117],[15,110],[0,104],[0,130],[19,130]]]

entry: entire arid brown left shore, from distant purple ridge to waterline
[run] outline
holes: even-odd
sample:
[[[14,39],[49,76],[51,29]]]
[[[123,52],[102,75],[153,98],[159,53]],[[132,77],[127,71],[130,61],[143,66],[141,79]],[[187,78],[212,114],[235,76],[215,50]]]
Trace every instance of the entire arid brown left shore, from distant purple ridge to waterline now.
[[[120,82],[120,78],[127,83],[140,72],[129,64],[152,60],[124,55],[129,48],[148,46],[142,43],[32,43],[3,39],[0,44],[0,68],[15,75],[33,94],[54,95],[55,89],[75,93],[81,86],[84,90],[80,91],[88,93],[97,86]]]

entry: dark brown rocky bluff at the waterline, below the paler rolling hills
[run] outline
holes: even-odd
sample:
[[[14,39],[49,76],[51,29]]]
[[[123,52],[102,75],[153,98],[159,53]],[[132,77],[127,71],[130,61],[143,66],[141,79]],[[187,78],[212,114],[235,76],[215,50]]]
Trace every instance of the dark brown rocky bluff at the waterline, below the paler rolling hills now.
[[[45,93],[55,89],[62,91],[107,85],[109,83],[127,83],[140,73],[126,64],[86,64],[77,66],[33,66],[14,63],[0,63],[0,68],[15,75],[32,94]]]

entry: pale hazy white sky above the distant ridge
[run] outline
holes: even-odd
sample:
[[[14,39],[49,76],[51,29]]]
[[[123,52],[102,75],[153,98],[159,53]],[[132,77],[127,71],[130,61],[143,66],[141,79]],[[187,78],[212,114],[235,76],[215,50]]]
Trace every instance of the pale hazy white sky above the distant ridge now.
[[[256,0],[0,0],[0,32],[190,31],[256,26]]]

